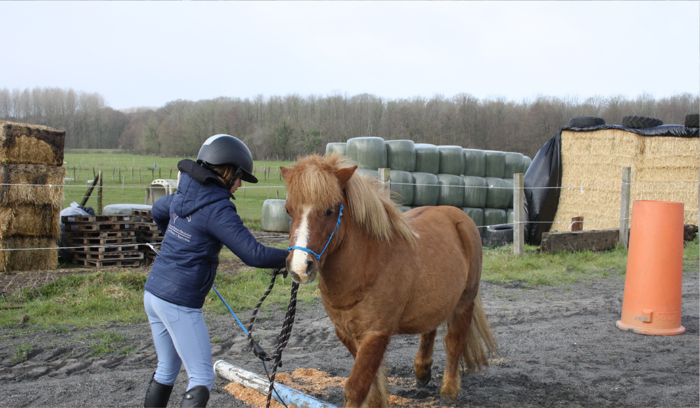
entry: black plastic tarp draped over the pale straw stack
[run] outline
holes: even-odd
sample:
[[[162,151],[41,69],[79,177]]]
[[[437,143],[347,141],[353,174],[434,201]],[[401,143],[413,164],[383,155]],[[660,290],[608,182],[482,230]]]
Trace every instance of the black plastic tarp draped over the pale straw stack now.
[[[682,125],[661,125],[632,129],[621,125],[595,127],[563,127],[545,143],[535,155],[524,176],[525,192],[525,242],[540,245],[542,232],[548,232],[559,206],[561,192],[561,131],[594,132],[604,129],[620,129],[643,136],[700,137],[699,128]]]

